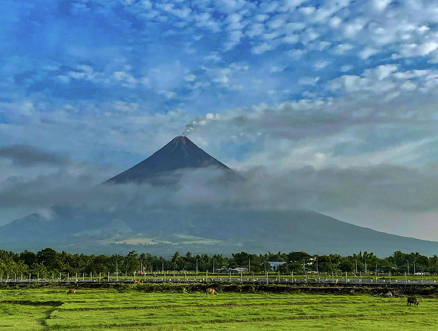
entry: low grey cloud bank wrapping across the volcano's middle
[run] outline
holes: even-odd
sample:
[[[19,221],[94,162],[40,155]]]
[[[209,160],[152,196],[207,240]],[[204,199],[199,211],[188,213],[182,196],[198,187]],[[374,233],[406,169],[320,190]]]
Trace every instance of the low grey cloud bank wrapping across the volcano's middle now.
[[[227,182],[217,169],[183,170],[169,174],[177,184],[102,184],[91,186],[96,176],[58,172],[30,182],[7,181],[0,190],[0,207],[38,212],[53,219],[50,206],[78,208],[90,213],[114,214],[119,219],[132,213],[192,207],[232,210],[314,210],[331,215],[356,210],[381,211],[386,214],[437,213],[438,178],[436,166],[410,169],[394,165],[371,167],[329,167],[271,171],[254,167],[241,172],[245,181]],[[24,216],[24,215],[23,215]],[[369,214],[367,215],[369,217]],[[391,227],[376,220],[356,217],[342,221],[403,234],[412,219],[392,221]],[[12,220],[2,220],[7,223]],[[430,220],[429,220],[430,221]],[[430,222],[428,222],[429,224]],[[421,228],[421,220],[417,225]],[[430,225],[430,224],[429,224]],[[379,226],[381,226],[379,228]],[[392,228],[392,231],[391,231]],[[423,227],[427,230],[427,227]],[[404,233],[409,235],[411,233]],[[412,234],[411,234],[412,235]],[[433,233],[414,233],[416,237],[436,239]]]

